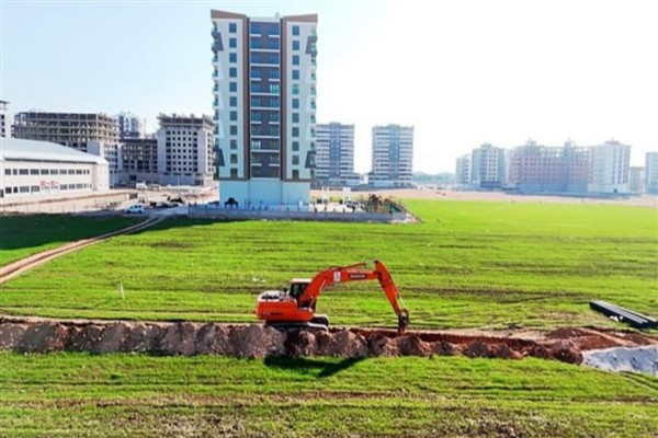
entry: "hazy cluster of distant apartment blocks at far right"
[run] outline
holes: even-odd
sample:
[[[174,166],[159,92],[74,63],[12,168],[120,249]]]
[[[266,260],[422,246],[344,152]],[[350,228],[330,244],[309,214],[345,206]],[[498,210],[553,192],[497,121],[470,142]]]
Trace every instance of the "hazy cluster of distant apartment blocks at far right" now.
[[[532,140],[512,149],[483,145],[456,160],[456,181],[464,188],[527,194],[639,194],[645,187],[651,192],[649,164],[656,153],[647,153],[645,168],[631,168],[631,146],[615,140],[588,147]]]

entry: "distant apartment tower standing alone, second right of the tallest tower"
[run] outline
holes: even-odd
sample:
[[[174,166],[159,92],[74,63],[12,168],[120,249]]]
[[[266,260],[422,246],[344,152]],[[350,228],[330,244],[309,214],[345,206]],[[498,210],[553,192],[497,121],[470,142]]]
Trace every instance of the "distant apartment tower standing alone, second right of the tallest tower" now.
[[[408,187],[413,163],[413,127],[373,127],[373,170],[368,183],[375,187]]]

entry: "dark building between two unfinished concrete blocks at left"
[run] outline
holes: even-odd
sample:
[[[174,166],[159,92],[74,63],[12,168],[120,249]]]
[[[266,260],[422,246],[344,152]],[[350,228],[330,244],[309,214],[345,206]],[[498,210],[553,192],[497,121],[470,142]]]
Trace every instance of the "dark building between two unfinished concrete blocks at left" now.
[[[124,138],[121,140],[121,182],[162,184],[158,171],[157,138]]]

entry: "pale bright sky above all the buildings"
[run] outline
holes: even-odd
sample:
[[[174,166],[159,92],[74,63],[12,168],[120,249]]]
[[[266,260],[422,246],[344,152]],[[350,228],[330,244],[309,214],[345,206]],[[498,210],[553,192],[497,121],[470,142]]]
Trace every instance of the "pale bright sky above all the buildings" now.
[[[488,142],[658,150],[658,1],[0,0],[0,99],[27,110],[212,114],[211,9],[318,14],[318,123],[415,127],[413,170]]]

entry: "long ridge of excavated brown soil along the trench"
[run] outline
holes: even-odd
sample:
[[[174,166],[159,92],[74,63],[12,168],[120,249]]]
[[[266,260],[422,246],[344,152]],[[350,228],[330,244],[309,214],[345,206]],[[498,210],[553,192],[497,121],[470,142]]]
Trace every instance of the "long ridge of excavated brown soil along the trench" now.
[[[561,327],[548,333],[507,330],[395,331],[332,328],[279,331],[258,324],[71,321],[0,316],[0,350],[18,353],[124,351],[150,355],[453,356],[521,359],[533,356],[570,364],[583,353],[612,347],[658,346],[658,338],[631,331]]]

